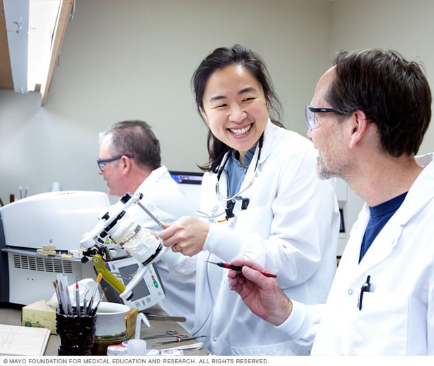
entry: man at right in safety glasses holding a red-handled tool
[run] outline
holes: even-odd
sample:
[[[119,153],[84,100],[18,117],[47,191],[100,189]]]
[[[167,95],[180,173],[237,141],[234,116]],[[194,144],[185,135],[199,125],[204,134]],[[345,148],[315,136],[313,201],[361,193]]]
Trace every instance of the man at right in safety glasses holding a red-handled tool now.
[[[416,62],[380,49],[339,52],[306,106],[322,179],[345,179],[366,204],[325,305],[288,299],[237,258],[229,288],[311,354],[434,355],[434,154],[415,157],[431,120]]]

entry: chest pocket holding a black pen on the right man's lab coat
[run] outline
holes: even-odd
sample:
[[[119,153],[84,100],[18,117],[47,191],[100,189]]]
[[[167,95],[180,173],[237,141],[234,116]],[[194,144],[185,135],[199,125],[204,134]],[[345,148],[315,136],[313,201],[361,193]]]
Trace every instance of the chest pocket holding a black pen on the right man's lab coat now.
[[[396,291],[365,292],[361,310],[354,304],[350,317],[349,342],[356,354],[405,354],[408,302],[407,295]]]

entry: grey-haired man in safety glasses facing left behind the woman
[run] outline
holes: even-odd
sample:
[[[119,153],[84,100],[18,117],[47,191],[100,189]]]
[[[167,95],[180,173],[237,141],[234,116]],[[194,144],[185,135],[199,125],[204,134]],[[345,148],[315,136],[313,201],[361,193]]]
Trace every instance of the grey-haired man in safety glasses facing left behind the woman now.
[[[109,187],[109,194],[124,196],[141,192],[141,203],[161,222],[172,222],[181,216],[196,216],[196,207],[161,164],[160,143],[151,126],[132,120],[112,124],[100,133],[98,174]],[[140,207],[137,222],[144,228],[160,231],[157,223]],[[190,331],[194,323],[194,276],[178,281],[168,266],[183,260],[181,253],[166,251],[163,260],[155,262],[165,291],[159,305],[173,316],[186,318],[183,327]],[[190,259],[188,259],[190,261]]]

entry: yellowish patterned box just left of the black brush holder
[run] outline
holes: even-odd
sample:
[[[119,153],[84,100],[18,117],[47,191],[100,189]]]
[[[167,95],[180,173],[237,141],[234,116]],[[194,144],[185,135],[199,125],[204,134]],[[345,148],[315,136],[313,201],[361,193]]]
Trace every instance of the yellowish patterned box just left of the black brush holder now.
[[[21,323],[26,327],[48,328],[56,334],[56,308],[48,305],[48,300],[39,300],[24,306]]]

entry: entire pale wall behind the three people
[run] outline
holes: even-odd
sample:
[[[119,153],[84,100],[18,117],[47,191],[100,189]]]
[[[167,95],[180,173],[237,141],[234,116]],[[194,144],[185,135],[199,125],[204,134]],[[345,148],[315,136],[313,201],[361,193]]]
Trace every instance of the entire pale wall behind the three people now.
[[[0,197],[18,187],[99,190],[98,132],[122,119],[155,129],[163,163],[198,171],[206,130],[192,72],[220,45],[261,54],[284,104],[284,124],[306,135],[303,107],[332,51],[386,47],[420,58],[434,85],[434,0],[76,0],[47,104],[0,91]],[[434,146],[429,128],[420,152]]]

